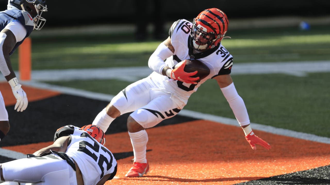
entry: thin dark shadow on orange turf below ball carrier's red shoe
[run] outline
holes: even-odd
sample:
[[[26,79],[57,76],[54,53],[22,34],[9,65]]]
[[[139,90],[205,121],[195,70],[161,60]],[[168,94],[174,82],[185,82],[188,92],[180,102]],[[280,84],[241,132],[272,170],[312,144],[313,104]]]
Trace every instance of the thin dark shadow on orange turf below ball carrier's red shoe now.
[[[143,179],[143,177],[149,177],[148,179]],[[236,180],[245,180],[251,181],[255,179],[265,178],[265,177],[220,177],[220,178],[212,178],[212,179],[187,179],[187,178],[174,178],[160,175],[145,175],[141,178],[119,178],[122,180],[140,180],[140,181],[170,181],[170,182],[223,182],[223,181],[236,181]],[[157,178],[157,179],[150,179]],[[162,180],[160,180],[162,179]]]

